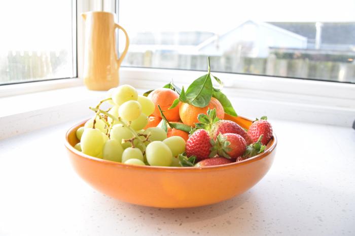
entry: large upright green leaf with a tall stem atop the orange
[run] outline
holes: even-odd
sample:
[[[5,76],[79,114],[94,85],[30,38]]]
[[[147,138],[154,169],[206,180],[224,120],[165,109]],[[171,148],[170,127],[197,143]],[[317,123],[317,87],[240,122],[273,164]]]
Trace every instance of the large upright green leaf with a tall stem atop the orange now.
[[[210,74],[203,75],[193,81],[186,90],[187,102],[195,107],[205,107],[212,97],[212,81]]]

